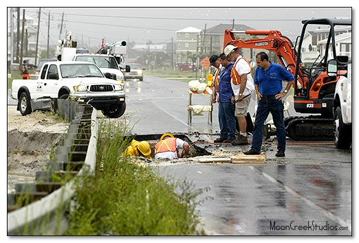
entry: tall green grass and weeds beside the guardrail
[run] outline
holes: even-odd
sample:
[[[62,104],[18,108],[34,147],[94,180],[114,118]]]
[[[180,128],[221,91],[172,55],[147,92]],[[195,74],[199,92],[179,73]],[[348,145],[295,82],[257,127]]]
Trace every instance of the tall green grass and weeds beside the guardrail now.
[[[66,235],[204,235],[196,206],[205,189],[157,176],[141,159],[122,157],[131,142],[125,127],[100,123],[96,176],[76,183]]]

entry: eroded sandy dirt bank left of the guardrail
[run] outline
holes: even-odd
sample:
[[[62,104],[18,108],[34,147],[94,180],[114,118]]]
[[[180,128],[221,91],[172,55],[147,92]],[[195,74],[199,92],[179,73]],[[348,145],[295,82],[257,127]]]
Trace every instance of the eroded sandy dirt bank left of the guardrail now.
[[[45,170],[50,154],[61,145],[69,123],[45,112],[22,116],[16,106],[8,106],[8,188],[31,181],[36,171]]]

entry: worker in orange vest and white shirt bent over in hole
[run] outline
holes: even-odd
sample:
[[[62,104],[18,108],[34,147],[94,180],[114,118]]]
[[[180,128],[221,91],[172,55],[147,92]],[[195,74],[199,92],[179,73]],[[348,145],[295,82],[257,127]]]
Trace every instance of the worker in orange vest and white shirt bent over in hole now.
[[[182,148],[182,152],[179,149]],[[177,159],[189,157],[189,144],[171,133],[164,133],[160,141],[155,145],[155,159]]]

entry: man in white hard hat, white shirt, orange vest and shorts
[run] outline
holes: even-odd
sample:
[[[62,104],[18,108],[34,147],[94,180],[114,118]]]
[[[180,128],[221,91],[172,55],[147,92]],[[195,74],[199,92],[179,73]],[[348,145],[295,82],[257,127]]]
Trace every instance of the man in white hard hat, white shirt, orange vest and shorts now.
[[[233,65],[231,78],[232,89],[235,100],[238,100],[235,107],[235,116],[238,119],[240,135],[232,145],[248,145],[246,114],[250,104],[250,95],[254,92],[252,68],[248,60],[239,54],[239,48],[234,45],[227,45],[224,54],[232,61]]]

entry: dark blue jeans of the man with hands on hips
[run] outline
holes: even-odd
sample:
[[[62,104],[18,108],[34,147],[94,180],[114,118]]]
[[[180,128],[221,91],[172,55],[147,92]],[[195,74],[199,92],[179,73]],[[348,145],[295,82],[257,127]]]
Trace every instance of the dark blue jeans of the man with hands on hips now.
[[[281,100],[273,97],[262,97],[258,101],[256,120],[253,128],[252,149],[261,152],[263,125],[269,113],[272,114],[274,126],[276,126],[277,149],[285,150],[286,132],[284,127],[284,106]]]

